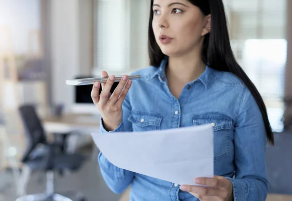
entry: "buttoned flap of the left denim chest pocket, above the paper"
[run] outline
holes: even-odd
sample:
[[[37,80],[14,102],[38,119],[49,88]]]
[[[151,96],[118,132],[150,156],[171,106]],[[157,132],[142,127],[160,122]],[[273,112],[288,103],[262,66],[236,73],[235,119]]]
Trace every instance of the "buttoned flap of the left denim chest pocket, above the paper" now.
[[[162,121],[162,115],[153,112],[134,111],[131,112],[128,121],[138,124],[141,127],[148,125],[159,126]]]

